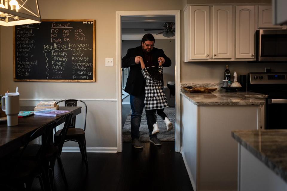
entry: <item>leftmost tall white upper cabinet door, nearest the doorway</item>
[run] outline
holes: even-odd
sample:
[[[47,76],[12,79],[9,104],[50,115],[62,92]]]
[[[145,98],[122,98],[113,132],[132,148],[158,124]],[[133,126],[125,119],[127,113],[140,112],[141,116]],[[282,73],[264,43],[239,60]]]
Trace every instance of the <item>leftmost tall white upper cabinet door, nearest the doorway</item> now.
[[[209,6],[190,6],[189,59],[209,58]],[[186,39],[188,40],[188,39]]]

